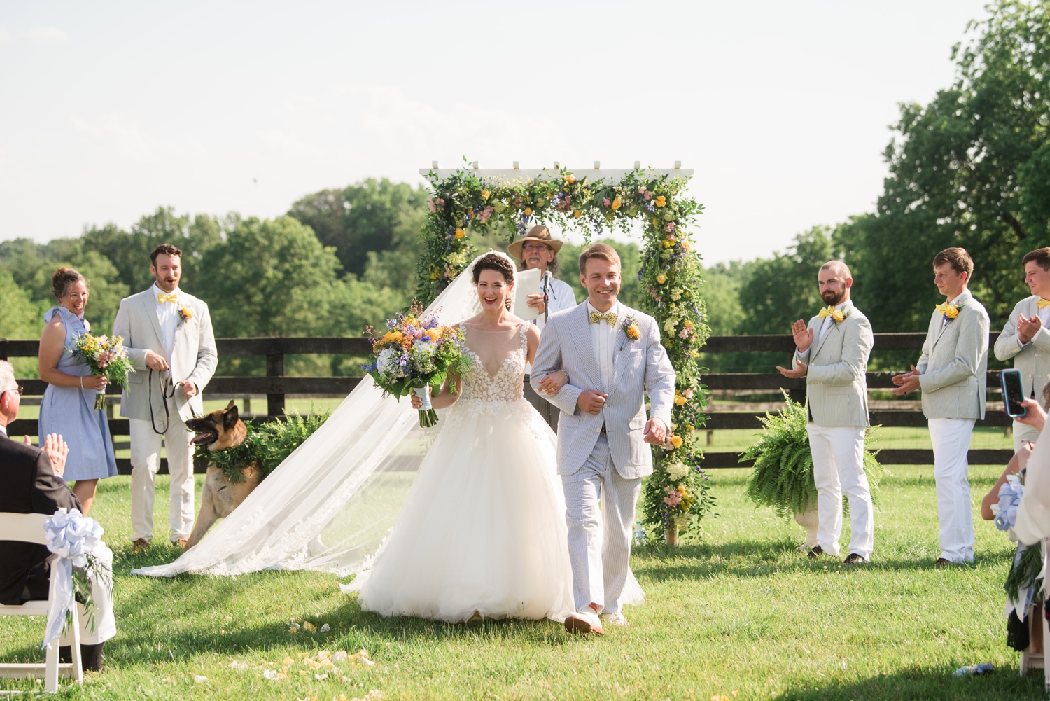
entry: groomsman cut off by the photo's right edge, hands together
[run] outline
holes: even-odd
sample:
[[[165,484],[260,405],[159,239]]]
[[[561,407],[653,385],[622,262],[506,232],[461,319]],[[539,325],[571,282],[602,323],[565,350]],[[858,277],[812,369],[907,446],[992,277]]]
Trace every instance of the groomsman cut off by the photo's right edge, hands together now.
[[[995,357],[1013,358],[1021,371],[1021,385],[1026,397],[1035,397],[1050,377],[1050,247],[1037,248],[1022,259],[1025,284],[1032,296],[1025,297],[1010,312],[1006,328],[995,342]],[[1040,432],[1027,424],[1013,421],[1013,450],[1026,442],[1035,442]]]

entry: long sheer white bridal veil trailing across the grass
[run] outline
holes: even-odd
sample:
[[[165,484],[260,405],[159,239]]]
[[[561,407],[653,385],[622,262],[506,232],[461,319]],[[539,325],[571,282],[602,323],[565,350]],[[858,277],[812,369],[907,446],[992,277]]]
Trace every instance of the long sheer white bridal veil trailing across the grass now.
[[[471,262],[424,314],[453,325],[474,315],[478,306]],[[358,572],[394,524],[416,467],[443,426],[439,420],[434,428],[421,428],[410,401],[384,397],[365,377],[201,542],[170,564],[132,574]]]

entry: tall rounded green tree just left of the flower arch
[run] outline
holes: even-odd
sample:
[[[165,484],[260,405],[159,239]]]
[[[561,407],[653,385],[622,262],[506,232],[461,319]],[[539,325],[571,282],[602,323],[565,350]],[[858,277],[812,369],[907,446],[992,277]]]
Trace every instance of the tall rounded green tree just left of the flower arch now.
[[[407,183],[392,183],[385,178],[370,178],[341,191],[309,194],[288,211],[289,217],[310,226],[324,246],[335,249],[348,272],[363,275],[366,268],[374,267],[377,281],[393,277],[398,282],[396,287],[405,289],[411,289],[402,282],[408,257],[405,253],[417,246],[425,213],[425,188],[413,189]],[[391,250],[401,253],[382,255]],[[415,268],[408,272],[415,275]]]

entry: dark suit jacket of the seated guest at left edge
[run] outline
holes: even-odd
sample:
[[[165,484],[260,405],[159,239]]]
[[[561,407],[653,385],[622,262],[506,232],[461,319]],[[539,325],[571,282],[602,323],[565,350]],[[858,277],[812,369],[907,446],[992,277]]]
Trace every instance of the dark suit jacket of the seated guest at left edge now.
[[[49,516],[63,507],[81,508],[47,454],[0,433],[0,511]],[[46,599],[50,554],[47,545],[0,540],[0,603],[20,604],[26,586],[29,599]]]

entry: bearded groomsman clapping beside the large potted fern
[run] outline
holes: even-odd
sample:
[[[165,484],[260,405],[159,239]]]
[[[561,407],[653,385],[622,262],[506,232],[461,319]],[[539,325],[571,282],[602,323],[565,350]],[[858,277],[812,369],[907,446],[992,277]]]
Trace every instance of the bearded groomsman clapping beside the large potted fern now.
[[[798,350],[784,377],[805,377],[810,451],[817,484],[817,544],[808,557],[839,555],[842,494],[849,499],[849,555],[845,564],[867,562],[875,547],[872,488],[864,474],[867,431],[867,358],[874,336],[867,317],[849,300],[853,274],[842,261],[830,261],[817,276],[827,305],[806,325],[792,325]]]

